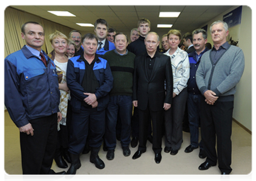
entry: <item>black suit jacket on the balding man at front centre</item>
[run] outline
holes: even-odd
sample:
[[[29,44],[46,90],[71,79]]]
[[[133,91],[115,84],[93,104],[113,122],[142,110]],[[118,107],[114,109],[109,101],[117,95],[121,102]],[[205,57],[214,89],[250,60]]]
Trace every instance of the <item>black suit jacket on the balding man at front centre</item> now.
[[[172,103],[172,68],[168,56],[156,51],[151,77],[146,72],[146,54],[136,56],[134,60],[133,100],[138,101],[138,109],[149,108],[153,111],[163,110],[163,103]],[[166,95],[165,95],[166,80]]]

